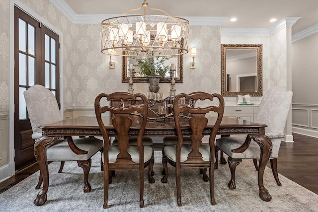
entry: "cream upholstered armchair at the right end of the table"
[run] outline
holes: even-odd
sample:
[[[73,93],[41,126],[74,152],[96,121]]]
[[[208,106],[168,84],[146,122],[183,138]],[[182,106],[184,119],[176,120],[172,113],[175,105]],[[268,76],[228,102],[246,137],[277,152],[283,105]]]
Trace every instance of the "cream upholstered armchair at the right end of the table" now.
[[[272,152],[270,155],[270,163],[274,178],[277,185],[281,186],[281,183],[278,179],[277,173],[277,158],[279,147],[282,139],[285,137],[284,128],[286,124],[286,119],[288,116],[288,111],[291,105],[293,92],[286,89],[285,87],[275,86],[269,89],[261,100],[259,106],[259,112],[257,114],[257,123],[266,124],[265,135],[268,136],[272,141]],[[239,148],[243,143],[250,142],[247,149],[242,152],[233,152],[233,149]],[[230,189],[236,189],[235,184],[235,170],[242,159],[253,159],[256,170],[257,159],[260,157],[260,147],[259,145],[251,141],[249,135],[245,141],[233,137],[222,137],[221,139],[216,140],[216,168],[218,166],[218,150],[221,149],[226,153],[228,157],[228,163],[231,170],[231,180],[228,184]],[[222,157],[222,154],[221,154]],[[220,161],[224,160],[221,158]],[[226,163],[226,162],[225,162]]]

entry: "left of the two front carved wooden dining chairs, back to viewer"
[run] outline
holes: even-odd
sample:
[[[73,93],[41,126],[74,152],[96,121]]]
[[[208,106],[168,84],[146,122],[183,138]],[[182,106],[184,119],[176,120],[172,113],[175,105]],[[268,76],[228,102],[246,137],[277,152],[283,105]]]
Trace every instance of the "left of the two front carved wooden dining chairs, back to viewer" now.
[[[103,106],[104,101],[110,100],[142,100],[143,104],[129,106]],[[95,114],[101,133],[104,138],[103,164],[104,164],[104,204],[107,208],[108,184],[111,177],[110,171],[115,170],[139,170],[140,202],[144,207],[144,168],[149,167],[149,183],[154,183],[152,176],[154,166],[154,150],[152,146],[143,145],[143,136],[148,116],[148,100],[144,94],[130,94],[127,92],[115,92],[112,94],[99,94],[95,99]],[[109,112],[111,116],[102,116]],[[111,122],[117,131],[118,145],[110,145],[109,135],[104,123]],[[130,133],[130,129],[133,130]],[[129,145],[131,135],[138,135],[137,145]]]

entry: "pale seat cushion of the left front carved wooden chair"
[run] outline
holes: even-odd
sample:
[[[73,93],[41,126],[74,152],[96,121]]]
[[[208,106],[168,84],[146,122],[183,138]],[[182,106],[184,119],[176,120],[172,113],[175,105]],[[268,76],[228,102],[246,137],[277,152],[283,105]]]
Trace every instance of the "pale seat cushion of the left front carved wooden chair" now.
[[[108,163],[114,163],[117,160],[117,155],[120,150],[117,145],[109,146],[108,148]],[[127,148],[127,152],[130,154],[132,161],[139,163],[139,149],[137,145],[131,145]],[[153,155],[153,147],[144,146],[144,163],[150,160]],[[102,161],[104,162],[104,156],[102,154]]]

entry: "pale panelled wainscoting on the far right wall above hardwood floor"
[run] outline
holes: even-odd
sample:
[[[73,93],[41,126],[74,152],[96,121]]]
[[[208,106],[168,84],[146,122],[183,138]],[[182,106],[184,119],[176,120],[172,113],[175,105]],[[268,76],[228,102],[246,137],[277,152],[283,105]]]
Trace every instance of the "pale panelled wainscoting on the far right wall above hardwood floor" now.
[[[292,132],[318,138],[318,104],[292,104]]]

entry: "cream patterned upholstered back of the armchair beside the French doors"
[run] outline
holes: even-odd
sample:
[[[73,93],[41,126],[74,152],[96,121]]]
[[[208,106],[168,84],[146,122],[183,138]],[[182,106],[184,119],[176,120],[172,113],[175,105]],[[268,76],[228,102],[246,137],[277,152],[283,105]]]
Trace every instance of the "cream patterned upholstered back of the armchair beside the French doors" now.
[[[42,85],[33,85],[24,91],[24,99],[32,126],[32,139],[42,135],[39,126],[62,120],[54,94]]]

